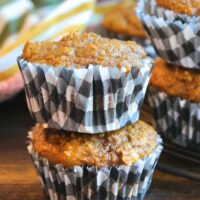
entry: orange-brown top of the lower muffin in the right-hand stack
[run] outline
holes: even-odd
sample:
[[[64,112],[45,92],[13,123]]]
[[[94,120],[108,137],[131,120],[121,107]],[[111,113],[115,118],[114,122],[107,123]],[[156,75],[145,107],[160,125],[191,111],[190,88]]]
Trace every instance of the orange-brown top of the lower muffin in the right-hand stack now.
[[[152,72],[150,85],[170,96],[200,102],[200,71],[172,66],[158,58]]]

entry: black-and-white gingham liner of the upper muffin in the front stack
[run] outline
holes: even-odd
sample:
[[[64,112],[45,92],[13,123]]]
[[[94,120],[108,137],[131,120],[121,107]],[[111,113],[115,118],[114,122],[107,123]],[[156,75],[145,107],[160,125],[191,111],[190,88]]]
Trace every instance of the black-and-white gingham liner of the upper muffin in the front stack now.
[[[142,60],[129,73],[118,68],[89,65],[52,67],[18,58],[33,118],[48,127],[100,133],[136,122],[153,62]]]

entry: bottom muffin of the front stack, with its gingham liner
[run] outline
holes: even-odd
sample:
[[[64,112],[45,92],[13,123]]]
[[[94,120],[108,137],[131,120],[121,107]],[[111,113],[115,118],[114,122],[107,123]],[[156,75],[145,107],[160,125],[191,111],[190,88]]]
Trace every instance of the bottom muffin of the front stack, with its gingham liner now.
[[[142,121],[98,135],[38,124],[29,153],[47,197],[53,199],[142,199],[162,151],[155,130]]]

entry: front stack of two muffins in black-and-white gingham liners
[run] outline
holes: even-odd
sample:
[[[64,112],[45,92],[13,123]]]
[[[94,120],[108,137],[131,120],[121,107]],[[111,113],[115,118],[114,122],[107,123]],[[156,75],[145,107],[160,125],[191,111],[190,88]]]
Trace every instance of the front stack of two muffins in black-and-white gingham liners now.
[[[142,199],[162,151],[139,121],[152,60],[135,42],[71,33],[18,59],[38,122],[28,150],[54,199]]]

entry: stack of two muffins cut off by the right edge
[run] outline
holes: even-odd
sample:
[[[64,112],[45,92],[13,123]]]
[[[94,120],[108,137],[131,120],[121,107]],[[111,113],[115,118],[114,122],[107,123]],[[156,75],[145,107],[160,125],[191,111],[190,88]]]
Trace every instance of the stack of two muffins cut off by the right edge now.
[[[149,89],[154,126],[165,139],[200,151],[200,1],[141,2],[137,13],[161,58]]]

